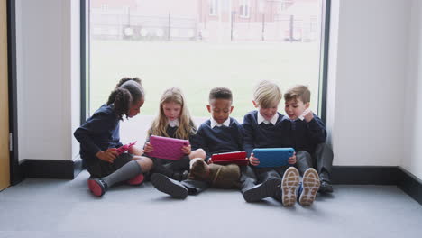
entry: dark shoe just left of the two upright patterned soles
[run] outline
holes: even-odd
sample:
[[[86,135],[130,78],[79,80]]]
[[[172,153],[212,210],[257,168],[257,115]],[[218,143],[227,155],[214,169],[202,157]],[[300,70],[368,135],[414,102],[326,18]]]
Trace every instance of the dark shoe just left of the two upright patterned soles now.
[[[256,185],[243,192],[243,198],[246,202],[258,202],[265,197],[274,197],[277,189],[280,189],[280,179],[269,179],[259,185]]]

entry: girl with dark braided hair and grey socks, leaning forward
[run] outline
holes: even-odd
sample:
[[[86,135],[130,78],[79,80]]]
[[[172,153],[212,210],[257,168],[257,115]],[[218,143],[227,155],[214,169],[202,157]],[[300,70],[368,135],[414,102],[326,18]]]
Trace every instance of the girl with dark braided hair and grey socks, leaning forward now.
[[[101,197],[108,188],[118,182],[127,181],[139,185],[143,173],[151,170],[152,160],[142,156],[143,151],[135,146],[119,154],[120,121],[140,113],[145,92],[139,78],[122,78],[102,105],[74,133],[80,143],[80,157],[87,167],[90,178],[88,188]]]

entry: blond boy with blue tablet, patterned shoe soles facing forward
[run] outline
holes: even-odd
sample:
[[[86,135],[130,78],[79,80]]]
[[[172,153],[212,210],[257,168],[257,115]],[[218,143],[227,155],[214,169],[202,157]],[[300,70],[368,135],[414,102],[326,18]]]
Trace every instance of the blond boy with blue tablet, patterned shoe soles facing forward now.
[[[252,166],[259,165],[259,158],[255,158],[252,153],[254,148],[291,147],[289,118],[277,112],[281,97],[280,88],[270,81],[261,81],[254,88],[252,103],[258,110],[243,118],[243,146]],[[299,196],[301,205],[311,205],[319,187],[319,178],[315,169],[308,169],[304,174],[303,189],[302,186],[298,189],[300,178],[298,169],[293,167],[295,163],[296,155],[293,155],[289,158],[288,166],[253,168],[259,184],[244,191],[244,199],[255,202],[265,197],[274,197],[284,206],[293,206]]]

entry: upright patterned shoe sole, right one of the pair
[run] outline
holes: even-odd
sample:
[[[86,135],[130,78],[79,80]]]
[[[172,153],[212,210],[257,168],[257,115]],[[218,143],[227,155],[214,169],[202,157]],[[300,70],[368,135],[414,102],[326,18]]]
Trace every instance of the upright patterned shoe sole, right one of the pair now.
[[[307,169],[303,174],[303,191],[299,197],[299,204],[310,206],[314,203],[319,189],[319,176],[315,169]]]

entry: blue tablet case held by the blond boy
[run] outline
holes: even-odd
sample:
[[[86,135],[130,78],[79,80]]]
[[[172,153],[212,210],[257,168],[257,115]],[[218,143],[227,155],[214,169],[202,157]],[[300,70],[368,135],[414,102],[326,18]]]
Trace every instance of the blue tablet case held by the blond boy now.
[[[268,168],[288,165],[288,160],[293,156],[293,148],[257,148],[253,149],[253,156],[260,160],[255,167]]]

